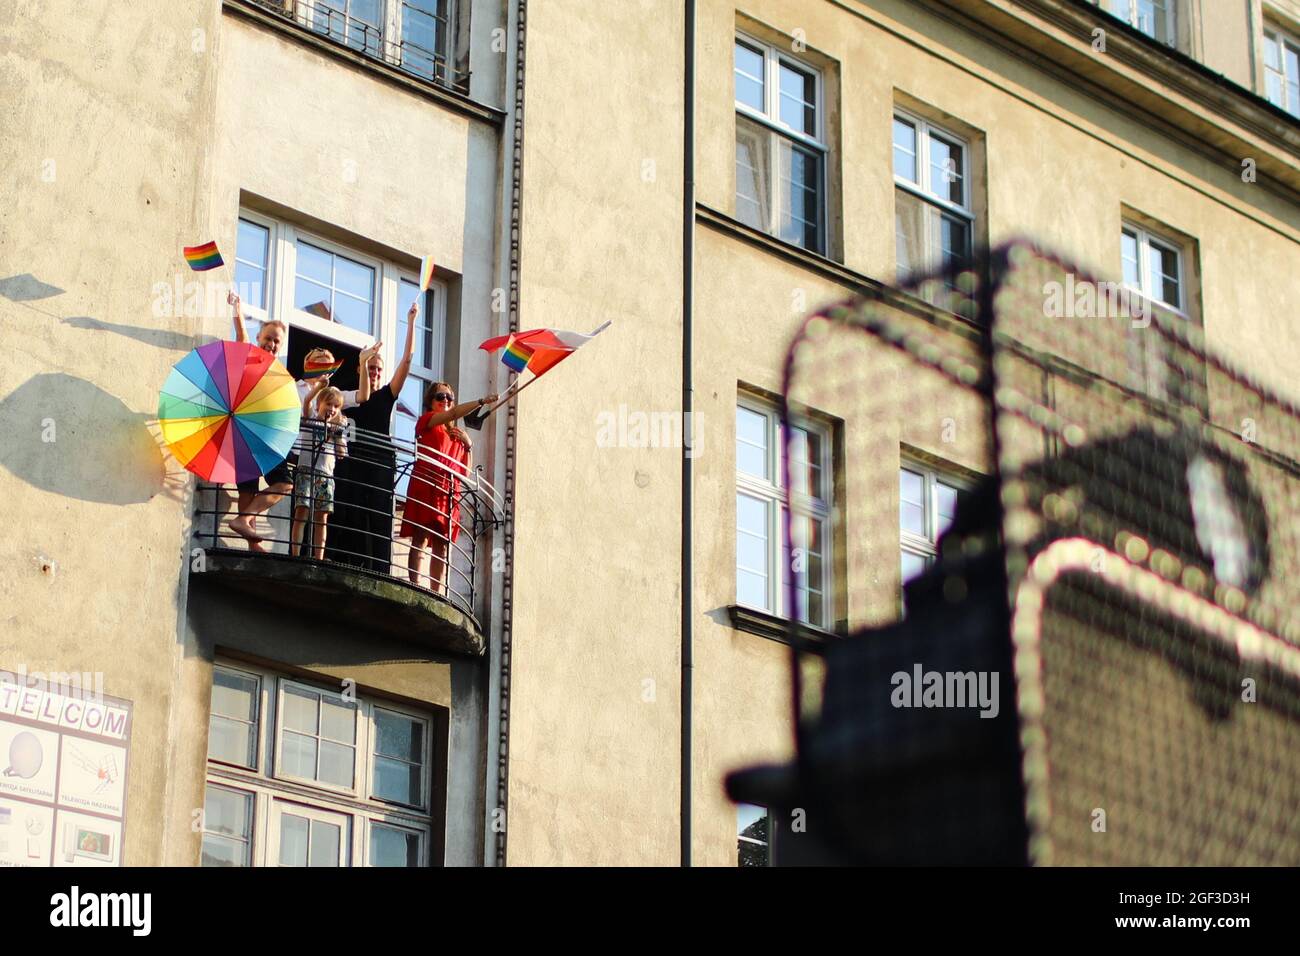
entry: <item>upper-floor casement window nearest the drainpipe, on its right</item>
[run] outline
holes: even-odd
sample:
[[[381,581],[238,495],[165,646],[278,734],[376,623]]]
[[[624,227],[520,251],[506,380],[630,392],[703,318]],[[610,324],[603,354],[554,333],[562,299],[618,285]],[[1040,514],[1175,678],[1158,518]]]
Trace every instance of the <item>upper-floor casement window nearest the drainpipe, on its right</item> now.
[[[826,252],[826,107],[822,74],[737,35],[736,219]]]

